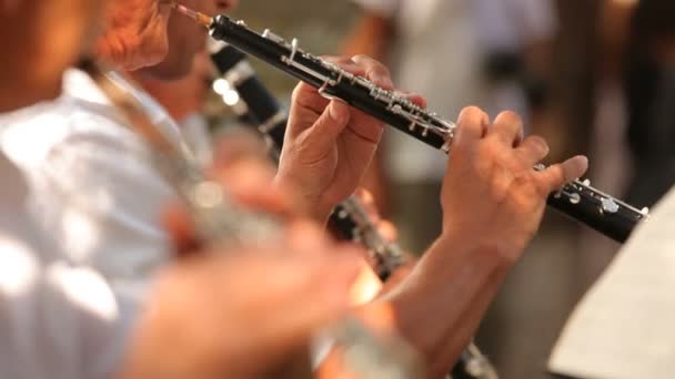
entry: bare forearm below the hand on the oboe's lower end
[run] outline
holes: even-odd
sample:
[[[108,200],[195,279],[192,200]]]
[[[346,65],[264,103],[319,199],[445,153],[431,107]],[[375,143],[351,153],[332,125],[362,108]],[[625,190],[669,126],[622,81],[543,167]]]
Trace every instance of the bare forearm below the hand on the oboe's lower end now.
[[[399,334],[426,359],[430,377],[442,377],[455,362],[510,266],[490,248],[442,237],[383,298],[393,308]]]

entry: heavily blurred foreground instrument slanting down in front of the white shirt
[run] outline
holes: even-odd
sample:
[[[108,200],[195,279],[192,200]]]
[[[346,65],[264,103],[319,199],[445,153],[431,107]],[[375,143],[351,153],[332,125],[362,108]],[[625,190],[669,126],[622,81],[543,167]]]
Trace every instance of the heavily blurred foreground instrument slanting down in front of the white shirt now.
[[[178,126],[169,116],[158,116],[164,113],[159,104],[114,71],[103,71],[91,62],[82,63],[82,69],[149,144],[153,163],[183,199],[203,242],[259,245],[281,238],[282,225],[276,217],[235,205],[228,191],[205,177],[187,145],[172,137]]]

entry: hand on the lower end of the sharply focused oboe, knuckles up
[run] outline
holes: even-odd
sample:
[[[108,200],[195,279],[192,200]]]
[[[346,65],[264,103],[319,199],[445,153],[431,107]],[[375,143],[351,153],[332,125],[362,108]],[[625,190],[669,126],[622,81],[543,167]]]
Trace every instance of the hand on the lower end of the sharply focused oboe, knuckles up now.
[[[460,115],[441,201],[443,233],[498,252],[507,262],[520,257],[542,219],[546,197],[587,168],[573,157],[536,172],[548,154],[537,136],[523,140],[523,124],[513,112],[491,124],[478,109]]]

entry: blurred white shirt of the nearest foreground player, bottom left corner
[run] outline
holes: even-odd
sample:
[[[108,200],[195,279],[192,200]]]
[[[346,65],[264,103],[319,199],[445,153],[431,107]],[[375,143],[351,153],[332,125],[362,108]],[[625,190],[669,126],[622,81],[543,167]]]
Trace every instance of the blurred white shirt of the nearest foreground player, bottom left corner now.
[[[26,212],[28,184],[0,153],[0,378],[110,378],[138,298],[63,254]]]

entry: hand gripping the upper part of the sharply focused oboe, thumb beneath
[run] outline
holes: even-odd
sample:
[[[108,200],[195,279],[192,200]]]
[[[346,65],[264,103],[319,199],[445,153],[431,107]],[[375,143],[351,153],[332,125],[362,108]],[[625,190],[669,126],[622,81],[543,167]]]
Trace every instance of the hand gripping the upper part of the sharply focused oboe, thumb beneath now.
[[[389,70],[367,57],[329,60],[393,89]],[[411,100],[424,105],[419,96]],[[278,182],[293,183],[304,209],[325,222],[332,208],[361,182],[382,131],[382,122],[342,101],[329,101],[316,89],[301,83],[293,92]]]

